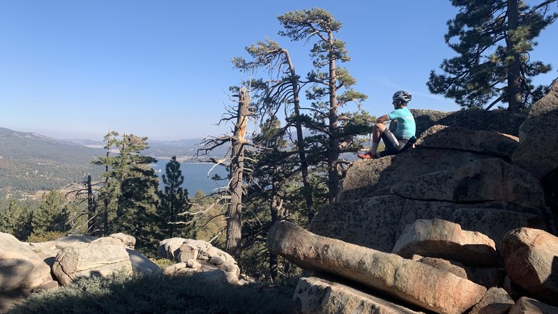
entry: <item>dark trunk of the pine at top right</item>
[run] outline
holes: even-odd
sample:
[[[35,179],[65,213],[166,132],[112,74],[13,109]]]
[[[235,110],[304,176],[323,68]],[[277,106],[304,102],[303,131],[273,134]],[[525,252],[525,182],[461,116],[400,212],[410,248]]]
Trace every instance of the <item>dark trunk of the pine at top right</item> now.
[[[521,98],[521,60],[520,54],[513,47],[515,40],[511,39],[510,31],[518,28],[518,0],[508,0],[508,33],[506,35],[506,48],[508,55],[513,60],[508,64],[508,110],[520,111],[522,107]]]

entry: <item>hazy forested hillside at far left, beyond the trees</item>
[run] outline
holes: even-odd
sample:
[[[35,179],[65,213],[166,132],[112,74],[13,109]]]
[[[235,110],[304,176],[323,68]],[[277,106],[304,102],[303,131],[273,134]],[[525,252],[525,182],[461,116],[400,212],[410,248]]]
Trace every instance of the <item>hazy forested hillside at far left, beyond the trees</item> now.
[[[104,154],[104,149],[0,128],[0,195],[60,188],[82,181],[88,172],[98,177],[103,169],[91,160]]]

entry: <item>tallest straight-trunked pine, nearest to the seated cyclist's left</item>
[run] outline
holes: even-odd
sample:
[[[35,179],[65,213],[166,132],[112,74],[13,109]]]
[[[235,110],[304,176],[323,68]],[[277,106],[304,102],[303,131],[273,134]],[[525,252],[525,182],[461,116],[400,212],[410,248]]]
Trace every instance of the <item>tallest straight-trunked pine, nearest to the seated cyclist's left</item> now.
[[[370,124],[355,124],[354,114],[342,113],[341,108],[349,102],[360,103],[366,96],[352,89],[356,80],[345,68],[339,68],[336,62],[349,61],[345,42],[335,38],[341,29],[341,22],[322,8],[296,10],[280,15],[285,31],[280,35],[292,40],[315,40],[310,50],[312,70],[307,80],[312,88],[306,96],[312,101],[312,119],[304,124],[315,135],[306,139],[312,141],[310,146],[316,148],[315,158],[325,163],[329,190],[328,200],[333,202],[339,190],[340,167],[345,164],[339,160],[340,154],[356,151],[356,135],[368,133]],[[322,70],[324,68],[324,70]]]

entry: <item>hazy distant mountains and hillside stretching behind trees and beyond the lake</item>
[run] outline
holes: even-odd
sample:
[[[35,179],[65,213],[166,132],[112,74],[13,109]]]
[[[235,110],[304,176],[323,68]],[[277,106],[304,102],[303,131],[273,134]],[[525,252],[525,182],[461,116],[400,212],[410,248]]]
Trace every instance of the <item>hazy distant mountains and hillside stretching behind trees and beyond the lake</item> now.
[[[155,157],[193,156],[200,142],[202,139],[148,139],[150,148],[143,154]],[[0,197],[61,188],[82,181],[88,173],[93,181],[98,180],[104,169],[91,164],[91,160],[105,156],[103,145],[103,141],[57,140],[0,127]],[[211,155],[223,156],[227,148],[216,149]]]

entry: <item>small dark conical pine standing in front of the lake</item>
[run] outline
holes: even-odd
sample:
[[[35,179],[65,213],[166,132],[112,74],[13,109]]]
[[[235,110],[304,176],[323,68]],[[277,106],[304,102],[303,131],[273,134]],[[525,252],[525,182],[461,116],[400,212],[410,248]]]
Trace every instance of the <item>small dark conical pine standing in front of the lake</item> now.
[[[188,190],[182,188],[184,176],[180,170],[180,163],[176,156],[165,165],[163,184],[165,190],[159,191],[158,214],[163,221],[163,235],[165,239],[172,237],[194,237],[193,218],[186,212],[190,209]],[[188,228],[187,228],[188,227]]]

